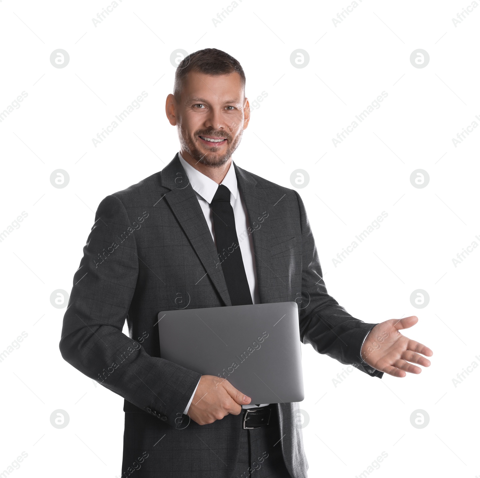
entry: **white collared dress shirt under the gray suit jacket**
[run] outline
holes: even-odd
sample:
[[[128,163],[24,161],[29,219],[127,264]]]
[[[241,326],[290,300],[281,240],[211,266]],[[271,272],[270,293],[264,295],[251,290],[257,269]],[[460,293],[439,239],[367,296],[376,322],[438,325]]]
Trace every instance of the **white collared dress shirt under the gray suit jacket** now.
[[[218,184],[213,179],[210,179],[208,176],[205,176],[200,171],[196,170],[191,166],[185,159],[182,158],[179,151],[180,163],[185,170],[185,173],[188,176],[190,184],[192,185],[195,195],[197,196],[198,202],[205,216],[205,221],[207,226],[210,229],[212,234],[212,239],[216,245],[215,241],[215,230],[213,223],[213,211],[210,209],[210,203],[212,202],[213,196],[215,196],[216,190],[218,189]],[[230,162],[230,167],[228,172],[223,178],[223,181],[220,183],[228,187],[230,190],[230,204],[233,208],[233,215],[235,216],[235,228],[237,230],[237,237],[239,238],[239,246],[241,251],[241,256],[243,259],[243,267],[245,268],[245,273],[247,275],[248,285],[250,286],[250,294],[252,295],[253,304],[259,304],[260,298],[258,294],[258,281],[257,281],[257,272],[255,270],[255,255],[253,254],[253,239],[252,234],[246,234],[250,223],[248,220],[247,207],[245,206],[245,200],[242,197],[240,189],[237,184],[237,175],[235,174],[235,169],[233,167],[233,160]],[[246,240],[248,238],[248,241]],[[197,383],[198,387],[198,383]],[[192,397],[183,412],[185,415],[192,403],[193,395],[197,391],[197,387],[193,391]],[[241,392],[241,390],[240,390]],[[260,404],[260,406],[265,406],[268,404]],[[242,408],[255,408],[257,405],[249,404],[242,405]]]

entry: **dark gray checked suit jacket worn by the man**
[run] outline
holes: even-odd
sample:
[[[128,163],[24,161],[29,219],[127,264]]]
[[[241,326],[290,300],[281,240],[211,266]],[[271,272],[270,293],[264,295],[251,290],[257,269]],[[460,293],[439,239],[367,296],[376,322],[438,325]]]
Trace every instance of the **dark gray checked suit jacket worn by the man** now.
[[[381,378],[360,357],[375,324],[353,318],[327,293],[297,191],[234,167],[248,210],[246,234],[252,234],[261,303],[296,301],[302,343]],[[200,374],[162,358],[159,347],[159,311],[187,302],[190,308],[231,305],[216,247],[178,154],[161,172],[105,197],[95,219],[73,278],[60,351],[73,367],[125,399],[122,472],[137,469],[131,463],[144,452],[138,478],[150,469],[162,477],[201,476],[205,470],[210,477],[230,477],[241,414],[204,426],[182,415]],[[122,333],[125,320],[130,337]],[[304,478],[299,404],[277,407],[287,469]]]

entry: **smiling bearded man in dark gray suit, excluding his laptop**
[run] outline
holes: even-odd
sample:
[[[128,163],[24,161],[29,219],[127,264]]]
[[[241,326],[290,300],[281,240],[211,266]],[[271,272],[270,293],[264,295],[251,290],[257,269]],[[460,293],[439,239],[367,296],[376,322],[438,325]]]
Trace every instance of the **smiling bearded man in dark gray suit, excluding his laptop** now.
[[[227,380],[162,358],[159,311],[297,301],[302,343],[372,377],[420,373],[415,364],[430,361],[419,354],[432,351],[399,332],[414,316],[372,324],[339,306],[297,191],[232,162],[250,119],[237,60],[217,49],[187,56],[166,113],[180,152],[100,203],[61,354],[125,399],[122,477],[304,478],[298,404],[251,404]]]

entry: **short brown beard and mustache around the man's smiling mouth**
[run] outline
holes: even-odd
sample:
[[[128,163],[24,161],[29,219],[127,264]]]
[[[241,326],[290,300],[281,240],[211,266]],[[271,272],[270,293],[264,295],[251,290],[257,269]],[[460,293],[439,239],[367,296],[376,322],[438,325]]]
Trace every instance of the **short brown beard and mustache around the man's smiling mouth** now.
[[[242,134],[243,130],[240,130],[239,135],[233,138],[227,131],[197,130],[190,136],[181,126],[179,128],[179,139],[182,149],[187,151],[196,163],[200,162],[205,166],[214,168],[220,168],[227,163],[235,149],[239,146]],[[226,138],[227,150],[223,154],[220,154],[217,152],[218,147],[216,146],[208,147],[197,145],[198,135]],[[205,150],[207,151],[204,152]]]

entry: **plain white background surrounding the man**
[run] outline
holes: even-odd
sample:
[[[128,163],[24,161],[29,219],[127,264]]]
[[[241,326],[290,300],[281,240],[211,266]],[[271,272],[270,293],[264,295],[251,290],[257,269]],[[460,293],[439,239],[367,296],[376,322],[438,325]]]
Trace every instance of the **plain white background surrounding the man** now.
[[[0,231],[28,214],[0,242],[0,351],[28,334],[0,362],[0,472],[25,452],[16,477],[120,475],[123,400],[62,360],[65,309],[50,294],[70,293],[99,202],[178,151],[165,116],[171,53],[214,47],[242,64],[247,97],[268,95],[252,111],[237,164],[291,188],[293,171],[310,176],[299,191],[329,293],[365,322],[417,315],[404,333],[433,350],[420,375],[379,380],[353,369],[335,386],[346,366],[302,346],[309,476],[355,477],[382,452],[374,477],[479,475],[480,370],[452,379],[480,364],[480,250],[457,267],[452,258],[480,244],[480,128],[456,147],[452,138],[480,124],[480,8],[455,26],[468,0],[364,0],[335,26],[350,2],[238,3],[214,25],[228,0],[123,0],[95,26],[108,1],[0,1],[0,111],[28,94],[0,123]],[[55,49],[69,53],[65,68],[51,65]],[[306,67],[290,63],[295,49],[308,52]],[[430,55],[425,68],[410,63],[416,49]],[[92,138],[142,91],[141,107],[95,147]],[[383,91],[380,108],[334,146]],[[67,187],[50,184],[56,169],[68,172]],[[410,183],[417,169],[430,176],[424,188]],[[380,228],[335,266],[382,211]],[[421,309],[410,302],[417,289],[430,296]],[[57,409],[70,417],[63,429],[50,424]],[[423,429],[410,423],[418,409],[430,417]]]

